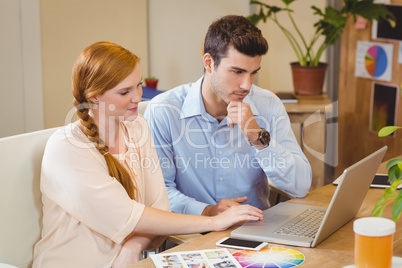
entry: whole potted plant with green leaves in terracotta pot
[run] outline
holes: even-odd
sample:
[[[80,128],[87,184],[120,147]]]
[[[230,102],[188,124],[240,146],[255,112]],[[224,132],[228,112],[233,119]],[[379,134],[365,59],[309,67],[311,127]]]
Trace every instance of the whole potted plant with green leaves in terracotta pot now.
[[[250,4],[258,5],[259,11],[247,18],[253,24],[257,24],[260,21],[273,21],[290,42],[298,59],[297,62],[291,63],[296,94],[315,95],[322,93],[327,64],[320,62],[320,58],[325,49],[339,39],[350,17],[353,17],[356,21],[357,16],[361,16],[370,22],[372,20],[390,19],[392,21],[394,19],[393,14],[384,5],[375,4],[374,0],[343,0],[344,4],[340,10],[336,10],[331,6],[326,7],[325,10],[312,6],[313,14],[317,15],[319,20],[312,26],[315,28],[314,35],[310,40],[307,40],[293,18],[294,11],[290,8],[290,5],[294,1],[281,0],[283,7],[278,7],[251,0]],[[277,14],[280,12],[287,13],[287,18],[290,20],[293,29],[287,29],[279,21]],[[294,30],[294,33],[292,33],[292,30]],[[318,71],[319,76],[313,76],[315,83],[305,81],[311,71]],[[297,81],[300,79],[302,79],[302,84],[299,86]],[[315,89],[313,88],[314,86]]]

